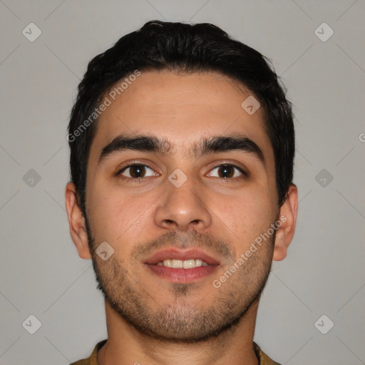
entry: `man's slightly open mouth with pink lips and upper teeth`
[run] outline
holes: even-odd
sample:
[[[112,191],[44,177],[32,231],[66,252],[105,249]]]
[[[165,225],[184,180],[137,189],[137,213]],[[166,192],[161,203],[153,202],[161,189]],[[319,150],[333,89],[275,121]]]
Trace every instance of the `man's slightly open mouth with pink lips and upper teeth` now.
[[[172,282],[193,282],[215,272],[220,262],[197,249],[168,249],[143,262],[153,274]]]

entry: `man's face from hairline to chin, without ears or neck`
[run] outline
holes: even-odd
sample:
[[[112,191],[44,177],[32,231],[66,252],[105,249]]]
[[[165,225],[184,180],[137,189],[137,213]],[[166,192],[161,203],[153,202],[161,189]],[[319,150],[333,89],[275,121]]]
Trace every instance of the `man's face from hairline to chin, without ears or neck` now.
[[[216,336],[267,280],[274,234],[245,254],[278,218],[263,113],[241,106],[250,95],[219,73],[148,71],[98,120],[86,180],[93,265],[115,312],[144,334]]]

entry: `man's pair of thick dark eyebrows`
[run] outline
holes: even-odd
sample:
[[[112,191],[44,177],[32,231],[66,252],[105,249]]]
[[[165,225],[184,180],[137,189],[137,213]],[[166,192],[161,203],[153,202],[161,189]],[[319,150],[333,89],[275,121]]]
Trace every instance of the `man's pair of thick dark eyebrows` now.
[[[144,134],[135,135],[133,137],[118,135],[108,145],[106,145],[103,150],[101,150],[98,165],[103,163],[111,155],[115,155],[126,150],[151,152],[164,155],[168,153],[169,145],[171,145],[171,143],[168,140],[165,138],[158,138],[155,135]],[[210,153],[220,153],[233,150],[254,155],[255,158],[257,158],[257,160],[259,160],[259,162],[266,168],[264,154],[259,146],[245,135],[237,133],[233,135],[203,138],[201,141],[193,144],[187,155],[190,158],[197,159]]]

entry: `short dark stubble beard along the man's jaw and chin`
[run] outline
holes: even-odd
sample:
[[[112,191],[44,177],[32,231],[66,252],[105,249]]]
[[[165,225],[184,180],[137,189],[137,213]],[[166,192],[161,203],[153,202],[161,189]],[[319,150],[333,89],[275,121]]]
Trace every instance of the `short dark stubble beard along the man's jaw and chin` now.
[[[115,255],[107,261],[98,257],[95,252],[98,241],[93,239],[87,220],[86,227],[98,282],[97,288],[101,290],[110,307],[123,322],[141,334],[161,341],[174,343],[207,341],[225,331],[235,331],[237,324],[245,317],[250,307],[258,302],[272,266],[275,234],[264,242],[264,245],[259,247],[257,252],[220,288],[213,287],[212,280],[207,281],[205,285],[211,287],[212,299],[202,297],[200,302],[192,305],[189,299],[196,297],[200,292],[197,284],[171,283],[169,293],[157,295],[151,292],[136,275],[137,270],[128,270]],[[168,235],[169,242],[174,241],[171,237],[175,236]],[[195,235],[195,237],[200,236]],[[141,247],[146,246],[153,245],[141,245]],[[225,252],[228,255],[229,250]],[[236,259],[229,257],[229,261],[224,272]],[[137,260],[134,262],[141,264]],[[166,297],[168,302],[165,300]]]

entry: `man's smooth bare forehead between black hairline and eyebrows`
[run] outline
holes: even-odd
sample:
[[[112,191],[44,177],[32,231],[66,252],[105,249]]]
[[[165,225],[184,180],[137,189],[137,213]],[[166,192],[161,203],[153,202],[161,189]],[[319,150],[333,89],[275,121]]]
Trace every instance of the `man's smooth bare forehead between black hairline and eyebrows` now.
[[[240,133],[254,140],[270,159],[263,110],[250,115],[242,108],[252,93],[237,81],[215,72],[168,71],[142,71],[133,80],[117,89],[120,81],[105,94],[110,106],[99,117],[91,158],[98,158],[118,135],[158,135],[187,156],[201,138]]]

